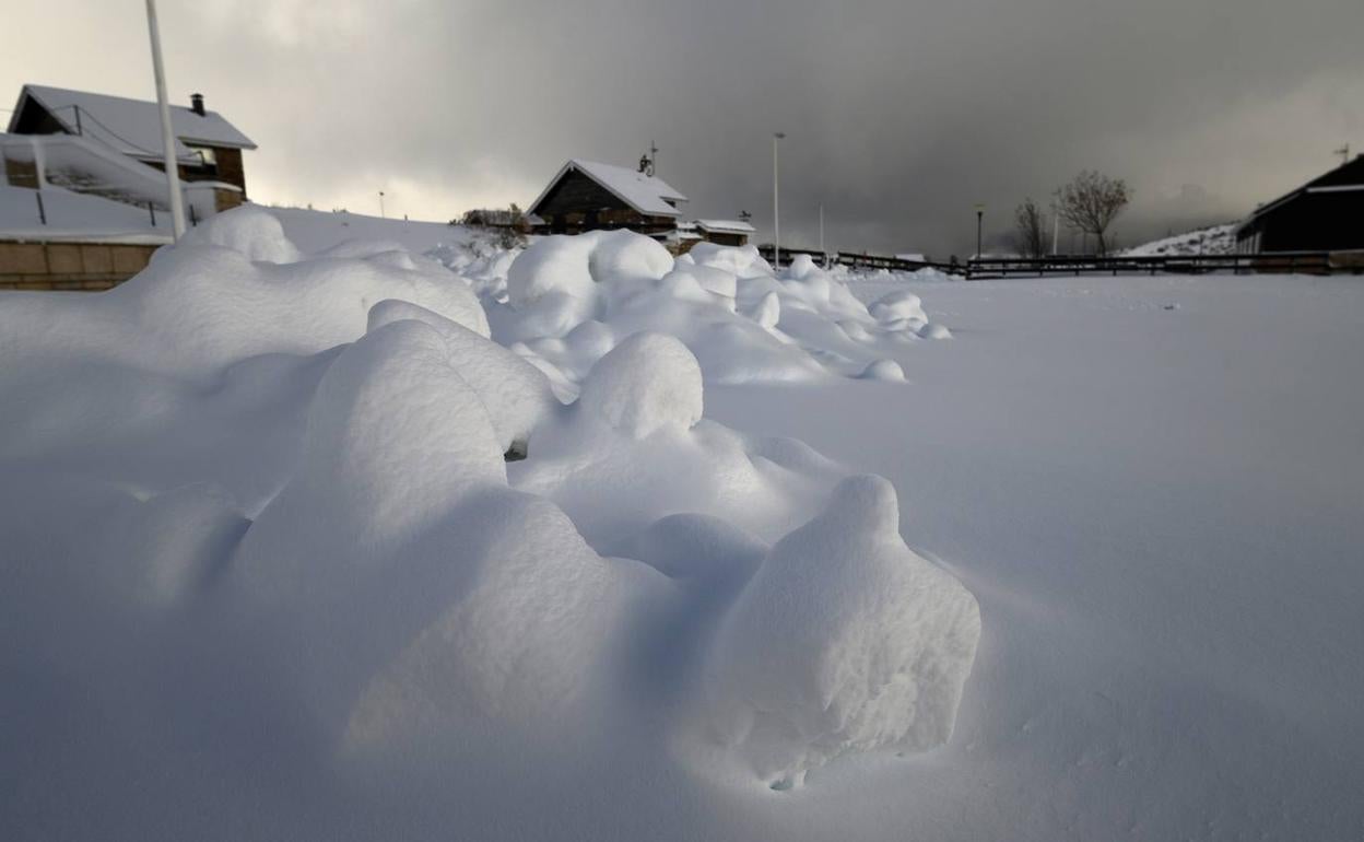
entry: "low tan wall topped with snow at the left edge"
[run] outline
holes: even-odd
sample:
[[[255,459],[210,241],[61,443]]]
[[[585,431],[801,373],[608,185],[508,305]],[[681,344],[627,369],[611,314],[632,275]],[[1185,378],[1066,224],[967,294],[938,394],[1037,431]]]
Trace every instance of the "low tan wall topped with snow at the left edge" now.
[[[0,240],[0,289],[110,289],[142,272],[157,248]]]

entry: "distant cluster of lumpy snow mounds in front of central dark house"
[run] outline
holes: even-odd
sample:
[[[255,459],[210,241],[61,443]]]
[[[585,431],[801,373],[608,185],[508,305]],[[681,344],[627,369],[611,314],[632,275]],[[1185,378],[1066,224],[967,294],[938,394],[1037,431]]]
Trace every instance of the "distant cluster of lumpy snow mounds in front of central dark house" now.
[[[928,318],[917,296],[893,293],[869,310],[809,255],[776,273],[754,247],[700,243],[674,261],[627,231],[533,243],[509,266],[505,296],[471,285],[494,338],[544,371],[563,400],[610,351],[602,329],[578,336],[584,325],[600,323],[614,340],[674,336],[712,383],[859,377],[895,345],[938,336],[921,330]]]

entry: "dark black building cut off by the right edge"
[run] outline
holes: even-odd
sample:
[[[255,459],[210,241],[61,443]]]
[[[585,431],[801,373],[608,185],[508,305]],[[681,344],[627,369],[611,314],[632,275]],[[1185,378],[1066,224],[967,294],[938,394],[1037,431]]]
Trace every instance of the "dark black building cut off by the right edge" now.
[[[1364,250],[1364,156],[1262,205],[1237,228],[1236,250]]]

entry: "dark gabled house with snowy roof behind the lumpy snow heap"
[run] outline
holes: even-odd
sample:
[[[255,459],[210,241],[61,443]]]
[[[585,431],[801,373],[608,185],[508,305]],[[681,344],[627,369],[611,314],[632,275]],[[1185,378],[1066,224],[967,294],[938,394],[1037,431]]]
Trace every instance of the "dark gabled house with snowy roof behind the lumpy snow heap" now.
[[[667,240],[686,202],[681,191],[644,171],[573,160],[531,203],[539,233],[627,228]]]

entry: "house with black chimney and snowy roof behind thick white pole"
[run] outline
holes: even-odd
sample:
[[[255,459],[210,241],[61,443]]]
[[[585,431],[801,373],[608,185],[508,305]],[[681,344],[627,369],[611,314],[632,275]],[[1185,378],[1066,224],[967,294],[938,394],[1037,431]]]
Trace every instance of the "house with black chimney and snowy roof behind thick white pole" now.
[[[205,108],[203,96],[192,94],[188,106],[170,106],[175,154],[184,182],[210,182],[216,210],[247,199],[243,150],[256,145],[217,112]],[[90,160],[110,151],[165,169],[161,149],[161,115],[155,102],[108,94],[25,85],[10,117],[10,135],[70,135],[79,138]],[[23,184],[22,162],[7,160],[11,184]],[[37,182],[37,176],[33,176]],[[37,186],[34,183],[33,186]]]

